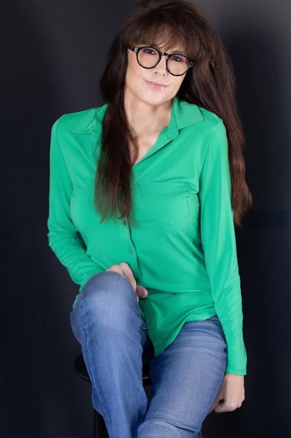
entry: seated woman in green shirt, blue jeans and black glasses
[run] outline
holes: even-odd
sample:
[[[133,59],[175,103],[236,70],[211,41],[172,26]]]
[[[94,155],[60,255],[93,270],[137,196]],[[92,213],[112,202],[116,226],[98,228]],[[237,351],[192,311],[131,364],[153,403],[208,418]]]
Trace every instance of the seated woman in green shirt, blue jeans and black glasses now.
[[[252,197],[234,84],[197,6],[142,0],[110,48],[106,103],[53,124],[49,245],[80,285],[71,327],[110,437],[196,437],[244,400],[234,225]]]

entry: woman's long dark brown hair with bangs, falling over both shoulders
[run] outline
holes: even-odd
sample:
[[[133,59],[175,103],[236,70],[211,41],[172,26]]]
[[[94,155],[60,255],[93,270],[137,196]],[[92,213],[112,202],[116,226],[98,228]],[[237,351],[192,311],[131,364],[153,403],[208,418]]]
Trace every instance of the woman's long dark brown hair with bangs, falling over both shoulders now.
[[[100,156],[95,178],[94,202],[102,219],[131,216],[132,163],[137,144],[124,110],[127,46],[152,45],[168,48],[182,44],[194,60],[177,92],[177,97],[194,103],[222,118],[228,137],[234,223],[241,225],[244,212],[253,204],[245,182],[243,147],[245,139],[235,98],[235,76],[220,37],[190,0],[141,0],[120,28],[109,49],[100,81],[103,100],[108,103],[100,135]],[[132,162],[132,145],[134,161]]]

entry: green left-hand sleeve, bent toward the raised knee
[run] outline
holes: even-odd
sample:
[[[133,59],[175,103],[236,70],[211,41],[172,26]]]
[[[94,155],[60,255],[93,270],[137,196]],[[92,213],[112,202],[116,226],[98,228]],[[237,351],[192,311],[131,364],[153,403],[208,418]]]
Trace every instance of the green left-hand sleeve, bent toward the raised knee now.
[[[51,128],[47,236],[52,251],[67,268],[72,281],[80,285],[81,292],[91,275],[104,270],[86,254],[85,242],[70,217],[72,182],[57,136],[59,121],[65,115],[56,120]]]

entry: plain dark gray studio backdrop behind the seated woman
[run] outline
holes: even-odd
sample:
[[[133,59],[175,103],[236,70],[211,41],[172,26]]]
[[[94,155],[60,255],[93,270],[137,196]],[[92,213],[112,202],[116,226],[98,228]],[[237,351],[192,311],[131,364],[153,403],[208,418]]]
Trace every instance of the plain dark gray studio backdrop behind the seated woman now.
[[[1,1],[1,437],[88,437],[73,369],[78,286],[48,247],[49,144],[65,112],[103,104],[109,44],[135,1]],[[205,438],[291,436],[291,2],[199,0],[234,64],[254,206],[237,230],[245,401]]]

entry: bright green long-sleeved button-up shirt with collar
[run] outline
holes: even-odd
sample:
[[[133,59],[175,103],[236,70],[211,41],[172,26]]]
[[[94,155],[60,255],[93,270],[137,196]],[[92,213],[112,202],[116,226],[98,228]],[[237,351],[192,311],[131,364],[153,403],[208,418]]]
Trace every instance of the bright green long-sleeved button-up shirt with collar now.
[[[51,129],[49,245],[79,294],[91,275],[127,262],[148,295],[139,298],[154,354],[187,321],[218,315],[226,372],[246,374],[242,300],[231,207],[228,142],[215,113],[173,98],[170,124],[132,168],[133,219],[93,206],[108,104],[63,114]],[[78,295],[79,295],[78,294]],[[78,296],[77,295],[77,296]]]

